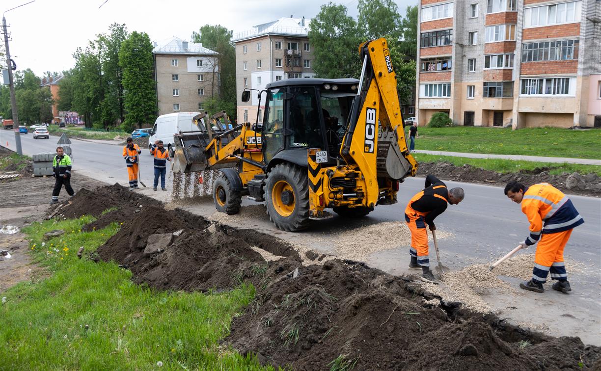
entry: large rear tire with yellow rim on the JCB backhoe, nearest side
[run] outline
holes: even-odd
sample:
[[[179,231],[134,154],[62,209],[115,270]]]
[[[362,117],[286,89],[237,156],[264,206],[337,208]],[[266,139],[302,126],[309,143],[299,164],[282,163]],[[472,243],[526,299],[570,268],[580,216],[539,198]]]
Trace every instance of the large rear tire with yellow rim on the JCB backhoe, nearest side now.
[[[269,220],[284,231],[301,231],[309,226],[309,179],[307,169],[294,164],[273,166],[265,184]]]

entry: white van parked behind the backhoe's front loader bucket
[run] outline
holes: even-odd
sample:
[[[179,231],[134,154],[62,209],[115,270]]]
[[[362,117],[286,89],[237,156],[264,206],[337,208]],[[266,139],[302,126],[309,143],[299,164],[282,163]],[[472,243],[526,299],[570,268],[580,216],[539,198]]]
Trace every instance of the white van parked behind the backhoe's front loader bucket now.
[[[173,155],[175,149],[173,135],[180,131],[200,131],[197,125],[192,122],[194,116],[200,112],[178,112],[160,115],[154,121],[154,126],[148,137],[148,148],[154,144],[155,140],[162,140],[163,146],[169,149],[169,155]],[[204,119],[201,119],[203,121]],[[204,125],[204,121],[203,121]]]

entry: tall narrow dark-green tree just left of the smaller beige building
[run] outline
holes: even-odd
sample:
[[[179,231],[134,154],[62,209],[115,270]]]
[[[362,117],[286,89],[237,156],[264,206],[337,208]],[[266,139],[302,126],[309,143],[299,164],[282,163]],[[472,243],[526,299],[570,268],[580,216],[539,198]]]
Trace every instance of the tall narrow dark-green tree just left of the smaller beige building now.
[[[131,131],[135,125],[142,127],[142,124],[154,122],[156,118],[152,49],[145,32],[132,32],[121,45],[119,65],[123,70],[126,109],[122,127],[126,131]]]

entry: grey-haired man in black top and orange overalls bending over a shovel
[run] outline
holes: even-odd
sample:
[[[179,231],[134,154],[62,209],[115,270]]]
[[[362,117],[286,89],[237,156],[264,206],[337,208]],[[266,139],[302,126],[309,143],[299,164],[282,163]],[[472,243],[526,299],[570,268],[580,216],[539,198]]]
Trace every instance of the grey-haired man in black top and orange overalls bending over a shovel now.
[[[462,188],[448,190],[446,184],[430,174],[426,176],[426,188],[413,196],[407,204],[405,222],[411,231],[409,269],[421,268],[421,280],[424,282],[436,283],[430,270],[426,225],[430,227],[430,231],[435,231],[434,219],[447,210],[448,204],[457,205],[464,197]]]

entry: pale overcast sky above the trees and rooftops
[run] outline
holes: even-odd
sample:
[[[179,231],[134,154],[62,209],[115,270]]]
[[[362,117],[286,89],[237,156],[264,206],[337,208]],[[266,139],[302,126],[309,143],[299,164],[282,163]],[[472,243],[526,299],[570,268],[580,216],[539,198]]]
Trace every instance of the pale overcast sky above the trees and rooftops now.
[[[172,36],[189,40],[200,26],[218,25],[236,32],[280,17],[311,18],[325,0],[36,0],[5,14],[12,58],[18,70],[46,71],[73,67],[73,52],[95,35],[108,32],[111,23],[125,23],[128,31],[146,32],[151,40]],[[4,12],[28,0],[0,0]],[[356,18],[358,0],[338,0]],[[416,0],[395,0],[401,16]],[[102,5],[101,8],[100,5]],[[4,40],[2,40],[4,43]],[[5,68],[5,60],[2,61]]]

